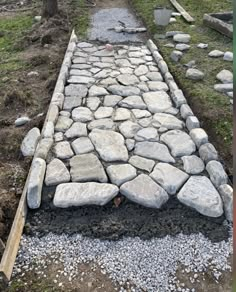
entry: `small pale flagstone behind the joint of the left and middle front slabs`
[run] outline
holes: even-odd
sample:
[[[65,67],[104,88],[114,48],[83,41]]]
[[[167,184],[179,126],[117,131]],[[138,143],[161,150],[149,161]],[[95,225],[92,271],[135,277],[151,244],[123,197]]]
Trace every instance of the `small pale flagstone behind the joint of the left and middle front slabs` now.
[[[130,164],[110,165],[106,169],[112,184],[120,186],[137,176],[136,169]]]

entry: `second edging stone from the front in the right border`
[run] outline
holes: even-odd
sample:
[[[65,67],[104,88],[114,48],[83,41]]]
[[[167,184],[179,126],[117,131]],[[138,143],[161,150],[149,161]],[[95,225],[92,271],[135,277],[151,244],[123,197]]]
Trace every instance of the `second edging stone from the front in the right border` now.
[[[228,183],[228,176],[219,161],[211,160],[208,162],[206,165],[206,170],[216,188]]]

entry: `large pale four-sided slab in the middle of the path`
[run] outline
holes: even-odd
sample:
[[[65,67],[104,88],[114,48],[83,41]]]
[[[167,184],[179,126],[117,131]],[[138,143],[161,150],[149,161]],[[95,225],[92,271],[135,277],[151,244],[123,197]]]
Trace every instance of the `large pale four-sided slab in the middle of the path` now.
[[[128,160],[128,151],[121,134],[114,131],[94,129],[89,134],[89,137],[104,161]]]

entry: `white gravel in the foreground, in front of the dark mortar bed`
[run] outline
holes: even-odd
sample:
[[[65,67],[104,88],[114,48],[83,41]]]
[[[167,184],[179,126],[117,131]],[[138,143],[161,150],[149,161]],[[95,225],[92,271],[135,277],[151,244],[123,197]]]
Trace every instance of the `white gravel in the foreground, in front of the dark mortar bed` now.
[[[212,271],[217,283],[223,271],[231,271],[228,259],[232,253],[232,238],[212,243],[202,234],[179,234],[146,241],[138,237],[101,241],[80,234],[50,233],[41,238],[23,236],[14,275],[20,276],[35,265],[38,270],[44,270],[48,264],[58,261],[73,279],[78,277],[78,264],[93,262],[120,286],[127,281],[133,283],[131,291],[190,292],[195,290],[188,289],[175,276],[178,267],[184,267],[192,283],[204,271]],[[126,290],[119,288],[119,291]]]

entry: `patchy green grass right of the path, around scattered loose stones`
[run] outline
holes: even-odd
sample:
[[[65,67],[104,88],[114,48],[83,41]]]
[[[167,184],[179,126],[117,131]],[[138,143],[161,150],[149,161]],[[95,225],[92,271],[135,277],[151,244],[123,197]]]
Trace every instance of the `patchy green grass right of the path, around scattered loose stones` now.
[[[135,8],[138,16],[140,16],[150,33],[163,33],[154,23],[153,10],[157,6],[169,7],[173,11],[169,0],[130,0]],[[216,80],[216,75],[222,69],[232,71],[232,63],[225,62],[222,59],[211,59],[208,57],[208,52],[213,49],[222,51],[232,51],[232,40],[224,37],[220,33],[207,28],[203,25],[204,13],[213,13],[221,11],[230,11],[233,9],[231,1],[221,0],[179,0],[179,3],[195,18],[194,25],[188,24],[182,17],[177,17],[177,22],[168,25],[164,30],[179,30],[191,35],[191,49],[184,54],[180,63],[173,63],[170,59],[170,54],[173,49],[164,47],[164,44],[171,42],[170,39],[156,41],[163,57],[168,63],[170,71],[175,76],[177,83],[183,89],[188,99],[188,102],[193,107],[194,112],[199,116],[199,119],[207,125],[207,130],[220,143],[222,149],[226,152],[231,152],[233,124],[232,124],[232,109],[229,98],[226,95],[217,93],[213,86],[219,81]],[[164,31],[164,33],[165,33]],[[208,43],[207,50],[194,48],[198,43]],[[197,68],[206,74],[203,82],[193,82],[185,78],[186,70],[183,64],[195,60]]]

